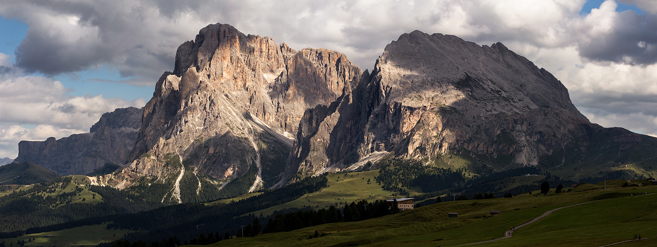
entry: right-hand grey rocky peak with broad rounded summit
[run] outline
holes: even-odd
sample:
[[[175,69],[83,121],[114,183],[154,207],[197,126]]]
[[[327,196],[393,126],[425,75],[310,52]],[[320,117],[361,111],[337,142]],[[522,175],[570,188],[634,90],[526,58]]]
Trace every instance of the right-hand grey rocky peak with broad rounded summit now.
[[[600,135],[616,141],[599,143]],[[501,43],[415,31],[388,45],[353,91],[306,112],[286,177],[368,169],[386,155],[448,167],[452,155],[464,156],[478,172],[622,164],[623,151],[646,138],[591,124],[560,81]],[[605,151],[592,143],[620,153],[600,160]]]

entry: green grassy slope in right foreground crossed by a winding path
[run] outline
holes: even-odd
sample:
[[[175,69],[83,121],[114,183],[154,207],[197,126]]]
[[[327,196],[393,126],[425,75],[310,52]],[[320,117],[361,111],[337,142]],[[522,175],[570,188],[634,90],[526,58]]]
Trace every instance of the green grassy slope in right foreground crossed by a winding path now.
[[[654,210],[657,194],[637,196],[644,192],[655,193],[657,186],[620,187],[622,184],[623,181],[607,181],[608,189],[603,189],[601,183],[583,184],[560,194],[555,194],[553,189],[547,196],[533,191],[514,198],[441,202],[366,221],[332,223],[254,238],[233,238],[215,245],[457,246],[500,238],[510,227],[521,225],[544,212],[582,202],[591,203],[558,210],[518,229],[512,238],[474,246],[602,246],[629,240],[635,234],[644,238],[657,235],[657,210]],[[489,210],[501,210],[502,213],[490,215]],[[449,218],[447,212],[458,212],[459,217]],[[315,230],[325,236],[309,238]],[[654,243],[656,239],[619,246]]]

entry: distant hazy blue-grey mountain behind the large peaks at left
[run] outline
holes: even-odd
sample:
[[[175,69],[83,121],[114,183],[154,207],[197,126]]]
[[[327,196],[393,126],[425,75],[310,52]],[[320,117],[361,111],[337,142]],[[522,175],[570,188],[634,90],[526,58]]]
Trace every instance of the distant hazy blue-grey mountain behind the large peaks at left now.
[[[34,162],[61,175],[87,174],[106,163],[123,165],[137,141],[142,112],[134,107],[118,108],[102,114],[90,133],[21,141],[16,162]]]

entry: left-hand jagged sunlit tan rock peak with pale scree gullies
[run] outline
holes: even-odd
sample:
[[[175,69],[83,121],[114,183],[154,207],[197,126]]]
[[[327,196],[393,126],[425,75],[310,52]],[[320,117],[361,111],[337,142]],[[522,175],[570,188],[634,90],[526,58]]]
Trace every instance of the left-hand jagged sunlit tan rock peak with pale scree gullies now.
[[[101,180],[127,187],[193,171],[199,187],[200,175],[223,187],[256,169],[250,190],[271,187],[306,109],[351,91],[361,73],[335,51],[294,51],[227,24],[206,26],[158,80],[129,164]]]

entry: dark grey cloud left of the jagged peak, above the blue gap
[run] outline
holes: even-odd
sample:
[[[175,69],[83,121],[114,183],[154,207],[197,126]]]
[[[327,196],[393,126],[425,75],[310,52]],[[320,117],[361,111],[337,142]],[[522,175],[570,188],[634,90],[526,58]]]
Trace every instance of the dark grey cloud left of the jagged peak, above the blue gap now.
[[[155,81],[171,70],[177,46],[206,23],[163,16],[154,6],[127,0],[5,1],[0,14],[29,26],[15,53],[16,66],[26,72],[57,75],[110,65],[124,78]]]

